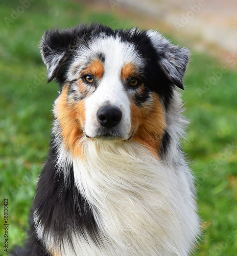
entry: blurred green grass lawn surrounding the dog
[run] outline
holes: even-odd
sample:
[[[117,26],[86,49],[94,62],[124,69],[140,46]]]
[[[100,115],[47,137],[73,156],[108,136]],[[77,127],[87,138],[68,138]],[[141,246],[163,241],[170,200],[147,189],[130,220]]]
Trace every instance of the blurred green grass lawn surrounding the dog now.
[[[12,248],[26,238],[35,184],[48,152],[58,86],[46,84],[38,50],[41,35],[52,27],[81,22],[136,26],[114,12],[97,13],[67,1],[28,3],[25,7],[19,1],[0,4],[0,255],[8,255],[3,248],[4,199],[8,199]],[[236,62],[229,56],[226,65]],[[225,63],[194,52],[185,85],[185,115],[191,124],[183,147],[197,178],[204,229],[195,255],[233,256],[237,252],[237,75]]]

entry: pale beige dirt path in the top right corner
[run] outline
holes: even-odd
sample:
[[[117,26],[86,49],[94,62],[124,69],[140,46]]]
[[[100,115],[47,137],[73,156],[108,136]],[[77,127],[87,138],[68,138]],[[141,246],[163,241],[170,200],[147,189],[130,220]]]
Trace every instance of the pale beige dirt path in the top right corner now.
[[[170,33],[183,44],[222,60],[237,55],[236,0],[97,0],[98,10],[129,17],[141,28]],[[236,58],[237,59],[237,58]],[[235,61],[237,62],[237,61]],[[237,70],[237,65],[231,68]]]

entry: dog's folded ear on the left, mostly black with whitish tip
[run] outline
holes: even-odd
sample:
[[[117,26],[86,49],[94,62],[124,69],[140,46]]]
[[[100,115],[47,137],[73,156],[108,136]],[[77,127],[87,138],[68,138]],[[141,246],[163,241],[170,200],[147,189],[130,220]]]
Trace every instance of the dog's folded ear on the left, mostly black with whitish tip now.
[[[67,30],[49,30],[44,33],[40,41],[40,53],[44,65],[48,70],[48,83],[54,78],[57,79],[57,74],[63,63],[70,55],[70,51],[74,46],[75,31]]]

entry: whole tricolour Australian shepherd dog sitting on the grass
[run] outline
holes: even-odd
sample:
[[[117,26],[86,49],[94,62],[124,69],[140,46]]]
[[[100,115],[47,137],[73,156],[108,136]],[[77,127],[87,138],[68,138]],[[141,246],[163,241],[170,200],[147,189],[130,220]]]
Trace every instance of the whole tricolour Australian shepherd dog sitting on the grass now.
[[[179,90],[189,50],[154,30],[82,24],[45,32],[40,51],[60,92],[32,234],[13,255],[192,253],[200,221]]]

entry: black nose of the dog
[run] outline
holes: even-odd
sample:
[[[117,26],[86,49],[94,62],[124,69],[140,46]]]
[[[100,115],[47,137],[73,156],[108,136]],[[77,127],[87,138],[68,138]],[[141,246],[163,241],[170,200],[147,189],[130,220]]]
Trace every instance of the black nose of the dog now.
[[[103,106],[97,112],[97,119],[102,126],[111,128],[121,121],[122,112],[113,106]]]

